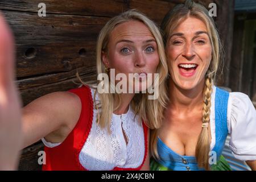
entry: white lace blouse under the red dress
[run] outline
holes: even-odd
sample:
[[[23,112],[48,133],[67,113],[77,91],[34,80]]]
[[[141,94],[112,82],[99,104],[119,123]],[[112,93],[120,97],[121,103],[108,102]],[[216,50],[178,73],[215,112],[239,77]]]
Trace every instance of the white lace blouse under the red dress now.
[[[94,98],[94,90],[91,90]],[[96,100],[98,96],[96,95]],[[96,123],[97,109],[93,109],[92,128],[79,155],[81,165],[88,170],[112,170],[115,167],[137,168],[144,158],[144,132],[138,115],[134,119],[134,111],[129,106],[126,114],[112,115],[110,133],[101,129]],[[127,138],[127,145],[123,131]],[[61,143],[50,143],[44,138],[47,147],[56,147]]]

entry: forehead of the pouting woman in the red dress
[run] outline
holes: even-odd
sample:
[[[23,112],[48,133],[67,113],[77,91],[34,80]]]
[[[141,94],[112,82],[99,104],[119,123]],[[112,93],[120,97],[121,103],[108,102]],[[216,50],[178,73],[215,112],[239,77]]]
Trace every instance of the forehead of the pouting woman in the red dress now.
[[[137,20],[118,24],[110,33],[110,41],[119,39],[155,39],[148,27]]]

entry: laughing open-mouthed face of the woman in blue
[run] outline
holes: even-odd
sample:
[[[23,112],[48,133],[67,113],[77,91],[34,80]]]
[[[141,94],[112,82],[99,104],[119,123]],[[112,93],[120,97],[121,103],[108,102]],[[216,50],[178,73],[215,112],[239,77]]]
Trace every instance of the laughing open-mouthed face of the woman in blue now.
[[[189,17],[179,24],[166,44],[168,68],[181,89],[193,89],[204,82],[212,60],[207,27],[200,19]]]

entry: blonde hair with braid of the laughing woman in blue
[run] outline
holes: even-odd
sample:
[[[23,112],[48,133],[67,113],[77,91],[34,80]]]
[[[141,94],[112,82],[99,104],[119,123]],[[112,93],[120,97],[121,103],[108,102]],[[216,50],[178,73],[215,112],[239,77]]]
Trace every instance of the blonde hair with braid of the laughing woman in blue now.
[[[202,20],[206,27],[209,35],[210,43],[212,46],[212,60],[205,75],[205,87],[204,87],[204,104],[203,104],[203,123],[209,123],[210,121],[210,99],[212,93],[212,85],[216,81],[216,75],[218,68],[222,65],[223,48],[220,42],[220,38],[214,24],[214,20],[209,16],[208,10],[191,0],[185,1],[185,3],[176,5],[169,13],[164,17],[161,29],[163,31],[164,44],[166,45],[171,32],[175,30],[177,26],[185,19],[189,17],[195,17]],[[210,139],[209,139],[209,128],[202,127],[199,139],[196,145],[196,159],[199,167],[203,167],[209,170],[209,151],[210,151]],[[152,155],[159,159],[159,155],[156,148],[157,142],[157,131],[151,133],[151,152]]]

